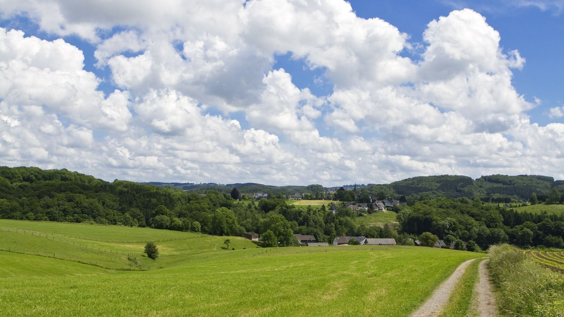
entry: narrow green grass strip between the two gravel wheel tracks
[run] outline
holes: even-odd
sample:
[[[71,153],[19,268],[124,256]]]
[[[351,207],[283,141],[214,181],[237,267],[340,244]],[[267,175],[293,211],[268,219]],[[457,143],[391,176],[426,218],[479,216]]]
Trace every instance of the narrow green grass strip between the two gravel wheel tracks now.
[[[466,267],[460,280],[455,285],[447,306],[439,313],[438,317],[473,316],[470,311],[474,296],[474,286],[478,282],[478,267],[483,259],[477,259]]]

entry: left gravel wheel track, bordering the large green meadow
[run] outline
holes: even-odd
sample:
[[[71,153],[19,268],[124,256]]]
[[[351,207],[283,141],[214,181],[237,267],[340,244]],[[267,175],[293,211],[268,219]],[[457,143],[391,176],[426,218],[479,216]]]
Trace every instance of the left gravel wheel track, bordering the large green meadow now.
[[[440,307],[443,307],[444,304],[447,303],[448,298],[451,296],[452,290],[455,288],[456,282],[460,279],[460,276],[466,270],[466,267],[470,264],[470,262],[474,261],[475,259],[470,259],[464,263],[462,263],[459,267],[456,268],[455,272],[448,278],[443,284],[440,284],[435,292],[427,300],[419,309],[411,314],[412,317],[431,317],[437,315],[439,312]]]

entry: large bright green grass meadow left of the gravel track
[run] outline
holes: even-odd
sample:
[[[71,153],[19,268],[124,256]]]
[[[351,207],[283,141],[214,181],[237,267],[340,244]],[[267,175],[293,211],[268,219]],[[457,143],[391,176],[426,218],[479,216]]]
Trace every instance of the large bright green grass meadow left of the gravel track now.
[[[2,316],[407,316],[460,263],[483,256],[416,246],[257,248],[241,237],[87,224],[0,227]],[[156,260],[140,255],[148,240]]]

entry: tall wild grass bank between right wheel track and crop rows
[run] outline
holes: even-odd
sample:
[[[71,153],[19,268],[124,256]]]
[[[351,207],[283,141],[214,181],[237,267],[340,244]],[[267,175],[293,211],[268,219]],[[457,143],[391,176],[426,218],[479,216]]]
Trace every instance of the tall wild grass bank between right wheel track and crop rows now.
[[[564,275],[536,265],[522,250],[508,244],[489,250],[488,268],[507,316],[564,317]]]

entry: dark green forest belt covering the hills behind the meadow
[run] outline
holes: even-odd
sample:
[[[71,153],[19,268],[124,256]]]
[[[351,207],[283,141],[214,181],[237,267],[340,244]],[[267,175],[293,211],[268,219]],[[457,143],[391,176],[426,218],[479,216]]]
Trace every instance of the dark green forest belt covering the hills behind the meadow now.
[[[241,235],[246,231],[263,234],[270,230],[280,245],[296,244],[294,233],[314,235],[318,241],[330,243],[336,236],[349,235],[393,237],[398,243],[410,244],[423,232],[431,232],[446,241],[475,241],[483,249],[501,242],[564,246],[564,214],[523,213],[487,203],[497,199],[517,202],[531,196],[557,202],[564,197],[564,184],[550,177],[490,175],[473,180],[441,175],[364,186],[358,188],[357,195],[343,188],[333,193],[357,202],[386,198],[405,201],[394,207],[398,224],[393,227],[358,226],[356,217],[365,214],[341,206],[341,202],[328,201],[321,209],[286,203],[284,191],[309,191],[315,197],[328,190],[320,185],[302,186],[301,190],[289,186],[276,193],[261,184],[237,185],[239,190],[212,186],[228,190],[208,189],[203,194],[117,179],[110,183],[66,169],[2,166],[0,217],[150,226],[212,235]],[[233,199],[244,191],[271,194],[268,199],[246,203]],[[329,210],[333,204],[339,204],[336,212]],[[372,212],[369,206],[368,213]]]

